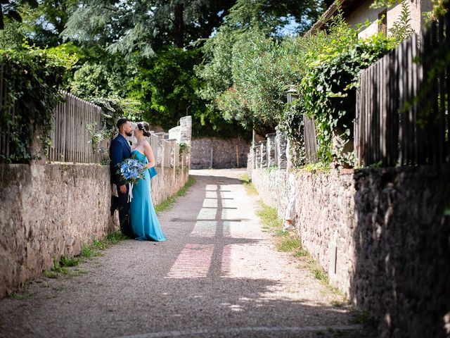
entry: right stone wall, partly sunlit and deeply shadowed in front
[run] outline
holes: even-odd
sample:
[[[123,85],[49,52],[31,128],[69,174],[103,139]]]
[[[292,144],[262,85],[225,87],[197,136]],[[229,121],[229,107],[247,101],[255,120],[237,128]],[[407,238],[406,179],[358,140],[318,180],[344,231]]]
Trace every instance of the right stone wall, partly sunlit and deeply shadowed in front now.
[[[296,177],[303,246],[330,284],[369,311],[379,336],[450,337],[450,168]],[[252,170],[259,195],[280,215],[286,178],[285,170]]]

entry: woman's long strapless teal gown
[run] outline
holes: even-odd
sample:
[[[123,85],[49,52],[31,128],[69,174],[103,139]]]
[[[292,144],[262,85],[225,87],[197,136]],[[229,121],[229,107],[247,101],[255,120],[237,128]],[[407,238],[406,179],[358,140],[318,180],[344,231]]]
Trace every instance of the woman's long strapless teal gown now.
[[[148,163],[147,156],[140,151],[132,151],[140,161]],[[150,173],[146,170],[146,179],[133,184],[133,199],[130,202],[129,217],[131,230],[138,241],[162,242],[166,240],[156,217],[150,192]]]

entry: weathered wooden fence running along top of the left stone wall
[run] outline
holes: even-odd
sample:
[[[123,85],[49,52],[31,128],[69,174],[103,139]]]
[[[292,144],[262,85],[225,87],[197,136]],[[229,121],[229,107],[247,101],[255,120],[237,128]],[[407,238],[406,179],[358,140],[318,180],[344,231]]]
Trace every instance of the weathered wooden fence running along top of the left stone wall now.
[[[4,107],[7,88],[3,79],[3,65],[0,65],[0,108]],[[51,131],[51,145],[46,160],[49,162],[69,163],[102,163],[108,162],[109,140],[105,139],[94,146],[91,143],[91,132],[98,132],[101,127],[101,107],[77,96],[62,92],[64,101],[56,106],[53,113],[53,130]],[[15,107],[8,108],[12,116]],[[0,155],[8,158],[12,153],[10,130],[8,125],[0,126]],[[89,132],[91,129],[91,132]],[[157,133],[147,137],[153,149],[153,155],[158,166],[174,168],[182,165],[188,167],[190,158],[188,154],[179,154],[179,145],[174,141],[165,139],[167,134]],[[128,137],[132,145],[136,142],[134,137]],[[0,158],[1,160],[1,158]]]

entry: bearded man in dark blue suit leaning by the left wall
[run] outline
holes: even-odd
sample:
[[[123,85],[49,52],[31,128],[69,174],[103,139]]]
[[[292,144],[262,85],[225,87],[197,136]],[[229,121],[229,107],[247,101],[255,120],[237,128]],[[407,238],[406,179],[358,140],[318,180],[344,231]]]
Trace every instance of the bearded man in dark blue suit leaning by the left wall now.
[[[113,196],[111,199],[111,214],[114,213],[116,208],[119,209],[120,231],[125,236],[132,237],[133,234],[129,225],[129,184],[122,181],[120,175],[117,174],[117,163],[131,157],[131,148],[126,139],[127,136],[131,136],[131,123],[127,118],[121,118],[117,121],[117,128],[119,134],[110,145],[110,171],[111,183],[116,185],[119,197]]]

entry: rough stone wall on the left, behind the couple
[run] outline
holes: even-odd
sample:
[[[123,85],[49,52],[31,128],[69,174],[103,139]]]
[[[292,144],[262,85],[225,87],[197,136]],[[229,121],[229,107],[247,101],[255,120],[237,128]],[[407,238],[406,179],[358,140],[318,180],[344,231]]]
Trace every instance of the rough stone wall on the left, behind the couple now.
[[[188,180],[188,168],[160,168],[152,180],[159,204]],[[118,229],[110,216],[109,166],[0,165],[0,299],[28,278],[75,256],[82,244]]]

